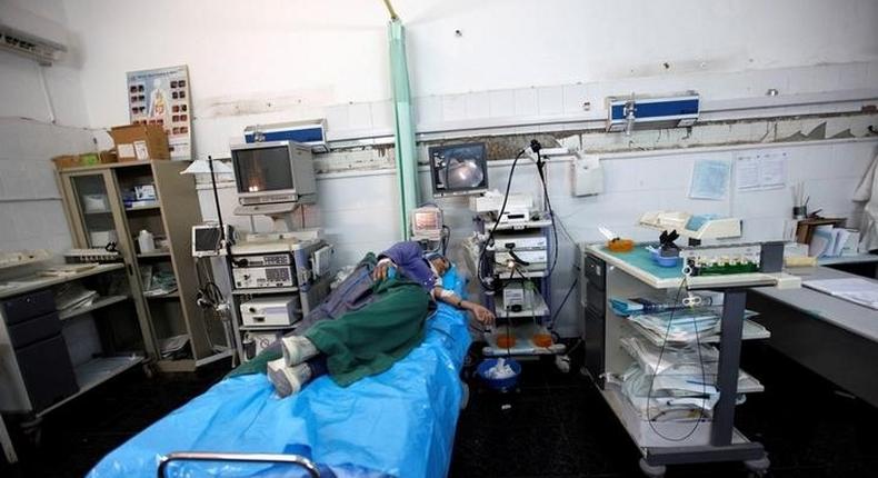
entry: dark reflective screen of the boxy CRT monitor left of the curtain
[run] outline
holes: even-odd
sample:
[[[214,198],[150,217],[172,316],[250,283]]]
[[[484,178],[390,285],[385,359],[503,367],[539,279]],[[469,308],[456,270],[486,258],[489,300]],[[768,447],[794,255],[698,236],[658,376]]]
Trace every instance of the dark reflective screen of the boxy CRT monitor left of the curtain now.
[[[232,150],[238,192],[293,189],[292,163],[287,146]]]

